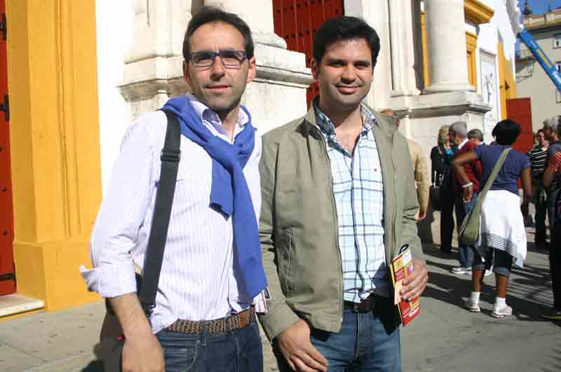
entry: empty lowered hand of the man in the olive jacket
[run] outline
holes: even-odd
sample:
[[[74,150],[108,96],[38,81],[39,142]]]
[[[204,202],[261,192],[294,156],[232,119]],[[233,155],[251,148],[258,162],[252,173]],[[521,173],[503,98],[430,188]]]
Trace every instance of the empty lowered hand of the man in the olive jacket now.
[[[310,326],[299,319],[276,336],[277,345],[290,368],[295,371],[327,371],[327,359],[313,347]]]

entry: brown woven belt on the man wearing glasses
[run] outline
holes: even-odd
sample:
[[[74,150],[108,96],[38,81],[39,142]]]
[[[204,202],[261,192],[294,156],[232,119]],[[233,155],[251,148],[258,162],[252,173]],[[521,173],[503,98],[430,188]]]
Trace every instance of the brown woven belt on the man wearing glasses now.
[[[242,329],[253,323],[255,323],[255,307],[251,306],[248,310],[215,320],[177,319],[172,325],[168,326],[168,329],[175,332],[198,334],[202,333],[203,326],[206,326],[208,333],[223,333]]]

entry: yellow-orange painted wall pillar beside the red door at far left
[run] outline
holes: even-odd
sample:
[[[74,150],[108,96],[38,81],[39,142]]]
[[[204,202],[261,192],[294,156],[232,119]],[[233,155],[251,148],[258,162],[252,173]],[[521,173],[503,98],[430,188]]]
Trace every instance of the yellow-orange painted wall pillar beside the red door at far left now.
[[[79,265],[101,200],[95,0],[7,0],[18,293],[95,301]]]

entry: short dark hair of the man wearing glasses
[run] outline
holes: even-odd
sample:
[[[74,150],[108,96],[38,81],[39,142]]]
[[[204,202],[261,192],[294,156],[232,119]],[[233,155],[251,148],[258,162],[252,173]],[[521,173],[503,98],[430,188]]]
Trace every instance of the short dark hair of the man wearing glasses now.
[[[253,45],[251,29],[248,24],[234,13],[222,11],[222,9],[215,6],[203,6],[203,8],[201,8],[201,10],[198,11],[193,18],[191,18],[189,25],[187,25],[187,31],[185,32],[185,37],[183,38],[183,58],[186,61],[189,60],[189,55],[191,54],[189,39],[191,39],[191,36],[193,36],[193,33],[196,29],[198,29],[198,27],[212,22],[224,22],[228,25],[234,26],[243,36],[245,53],[248,55],[248,59],[253,57],[255,46]]]

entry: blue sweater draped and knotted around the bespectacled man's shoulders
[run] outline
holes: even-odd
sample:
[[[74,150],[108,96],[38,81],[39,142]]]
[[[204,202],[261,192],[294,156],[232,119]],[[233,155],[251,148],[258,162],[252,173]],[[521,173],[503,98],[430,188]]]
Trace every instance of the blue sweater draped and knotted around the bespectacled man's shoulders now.
[[[177,115],[181,123],[181,134],[203,147],[212,158],[212,186],[210,207],[229,218],[234,227],[234,259],[241,271],[242,287],[251,297],[257,296],[266,287],[266,276],[261,259],[261,244],[257,217],[251,200],[243,167],[255,146],[255,128],[251,116],[249,122],[236,136],[234,144],[212,135],[185,96],[166,102],[163,110]]]

